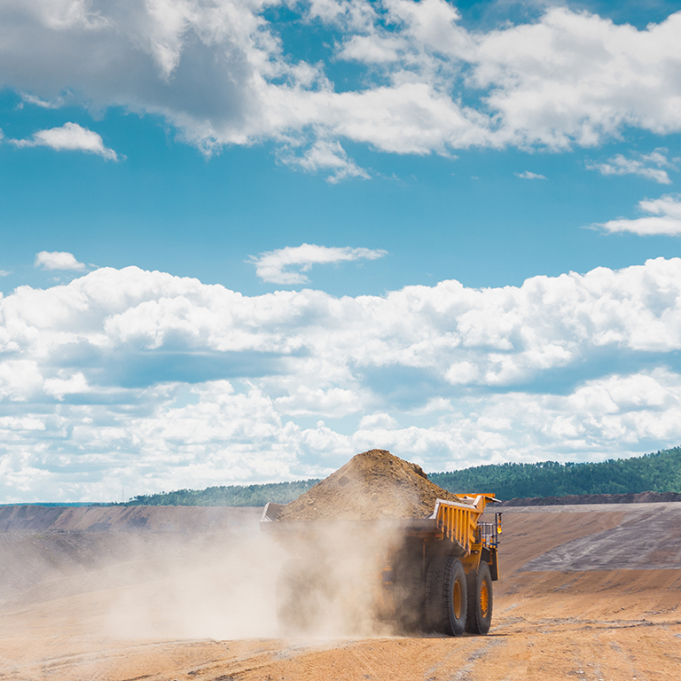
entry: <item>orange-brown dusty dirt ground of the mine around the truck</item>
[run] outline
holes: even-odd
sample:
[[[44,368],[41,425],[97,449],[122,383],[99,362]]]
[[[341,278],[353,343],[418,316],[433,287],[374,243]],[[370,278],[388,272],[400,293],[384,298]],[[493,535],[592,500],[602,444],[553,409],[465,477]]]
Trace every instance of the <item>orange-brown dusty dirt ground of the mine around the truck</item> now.
[[[277,638],[254,520],[92,535],[85,561],[64,539],[52,568],[50,532],[5,533],[0,679],[681,678],[681,504],[505,509],[492,630],[463,638]]]

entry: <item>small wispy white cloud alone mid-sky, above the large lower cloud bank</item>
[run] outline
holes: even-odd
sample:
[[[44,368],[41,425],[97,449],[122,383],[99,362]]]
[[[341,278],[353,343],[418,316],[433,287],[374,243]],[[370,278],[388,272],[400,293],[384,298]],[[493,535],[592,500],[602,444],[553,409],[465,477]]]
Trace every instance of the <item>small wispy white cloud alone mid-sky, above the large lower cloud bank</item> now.
[[[334,264],[353,260],[377,260],[387,251],[371,248],[326,247],[316,244],[279,248],[276,251],[262,253],[259,257],[251,257],[249,262],[255,265],[255,274],[262,281],[272,284],[305,284],[309,279],[302,274],[312,269],[312,265]]]

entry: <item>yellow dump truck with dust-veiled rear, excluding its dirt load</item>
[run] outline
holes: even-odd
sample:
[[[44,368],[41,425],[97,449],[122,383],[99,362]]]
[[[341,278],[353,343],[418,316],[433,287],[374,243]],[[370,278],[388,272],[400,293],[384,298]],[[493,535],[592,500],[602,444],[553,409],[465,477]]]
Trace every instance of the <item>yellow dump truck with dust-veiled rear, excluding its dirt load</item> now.
[[[284,506],[266,505],[262,531],[293,556],[278,579],[279,623],[287,631],[314,628],[320,609],[328,608],[321,595],[350,588],[344,576],[333,583],[328,575],[361,553],[362,583],[381,619],[399,622],[404,631],[486,634],[492,582],[499,578],[501,513],[481,522],[494,495],[457,497],[438,499],[428,518],[404,520],[279,521]]]

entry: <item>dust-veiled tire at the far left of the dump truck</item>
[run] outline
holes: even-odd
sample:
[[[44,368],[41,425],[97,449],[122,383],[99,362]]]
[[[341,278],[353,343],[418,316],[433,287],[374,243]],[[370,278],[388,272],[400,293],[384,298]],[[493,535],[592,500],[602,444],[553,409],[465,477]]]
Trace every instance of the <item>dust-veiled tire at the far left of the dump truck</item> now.
[[[315,626],[320,607],[316,582],[304,560],[286,560],[281,567],[276,604],[277,620],[284,634],[304,634]]]

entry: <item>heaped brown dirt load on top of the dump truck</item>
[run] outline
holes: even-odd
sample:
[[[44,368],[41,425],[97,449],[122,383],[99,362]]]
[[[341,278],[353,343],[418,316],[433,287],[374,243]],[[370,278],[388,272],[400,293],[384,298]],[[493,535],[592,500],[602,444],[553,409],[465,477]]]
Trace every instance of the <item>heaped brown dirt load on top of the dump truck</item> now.
[[[438,498],[458,501],[429,481],[420,466],[387,450],[369,450],[286,505],[278,520],[427,518]]]

